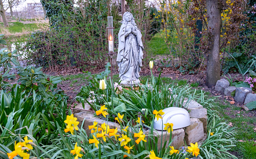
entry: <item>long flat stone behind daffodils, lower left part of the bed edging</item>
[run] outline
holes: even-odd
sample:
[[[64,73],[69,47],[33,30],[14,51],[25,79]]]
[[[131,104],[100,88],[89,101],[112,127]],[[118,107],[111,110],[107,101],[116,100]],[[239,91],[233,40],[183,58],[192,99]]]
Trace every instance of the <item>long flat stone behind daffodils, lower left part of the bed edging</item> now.
[[[93,125],[94,121],[98,122],[98,125],[101,125],[103,123],[107,124],[106,120],[95,118],[94,117],[94,112],[91,112],[91,111],[85,111],[85,112],[82,111],[82,112],[75,113],[74,117],[76,117],[77,121],[79,122],[78,127],[81,127],[82,123],[84,121],[83,128],[85,129],[88,136],[91,134],[91,130],[89,130],[88,127]],[[110,126],[110,128],[116,128],[117,127],[117,128],[120,129],[120,125],[117,124],[117,123],[113,123],[113,122],[108,121],[108,125]]]

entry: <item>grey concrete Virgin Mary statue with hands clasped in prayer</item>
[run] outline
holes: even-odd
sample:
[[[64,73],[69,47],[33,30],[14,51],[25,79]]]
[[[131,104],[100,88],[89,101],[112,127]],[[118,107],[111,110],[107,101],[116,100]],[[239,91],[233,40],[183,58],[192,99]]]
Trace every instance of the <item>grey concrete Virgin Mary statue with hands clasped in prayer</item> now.
[[[123,16],[122,26],[118,33],[118,54],[116,62],[118,64],[120,85],[138,85],[139,72],[142,67],[143,44],[142,34],[138,29],[134,17],[126,12]]]

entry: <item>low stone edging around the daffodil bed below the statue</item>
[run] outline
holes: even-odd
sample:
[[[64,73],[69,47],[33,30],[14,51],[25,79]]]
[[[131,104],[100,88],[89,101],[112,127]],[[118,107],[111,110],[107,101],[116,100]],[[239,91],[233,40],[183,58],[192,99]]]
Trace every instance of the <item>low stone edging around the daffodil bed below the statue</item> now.
[[[184,100],[183,105],[187,102],[187,99]],[[74,117],[77,118],[77,121],[79,121],[78,127],[81,127],[82,122],[84,121],[84,129],[86,130],[87,135],[89,136],[91,134],[91,130],[89,130],[88,126],[93,125],[93,122],[96,120],[98,124],[106,123],[106,120],[102,120],[99,118],[94,117],[94,113],[89,110],[91,107],[89,104],[85,103],[85,109],[83,109],[82,104],[78,104],[75,106],[74,109]],[[85,110],[85,111],[83,111]],[[186,145],[190,145],[190,143],[199,143],[201,144],[204,142],[207,138],[206,133],[206,127],[207,127],[207,109],[203,108],[201,104],[194,100],[190,100],[189,104],[187,106],[187,110],[189,111],[190,116],[190,126],[183,127],[179,129],[175,129],[172,131],[172,146],[175,148],[179,148],[184,144],[184,141]],[[108,125],[110,128],[118,127],[120,128],[120,125],[113,122],[108,122]],[[145,133],[148,133],[148,131],[145,130]],[[163,145],[161,145],[161,134],[162,131],[154,130],[154,135],[158,136],[158,147],[161,148]],[[165,131],[163,131],[163,140],[165,139],[166,135],[166,141],[168,145],[170,134]],[[162,142],[164,144],[165,141]]]

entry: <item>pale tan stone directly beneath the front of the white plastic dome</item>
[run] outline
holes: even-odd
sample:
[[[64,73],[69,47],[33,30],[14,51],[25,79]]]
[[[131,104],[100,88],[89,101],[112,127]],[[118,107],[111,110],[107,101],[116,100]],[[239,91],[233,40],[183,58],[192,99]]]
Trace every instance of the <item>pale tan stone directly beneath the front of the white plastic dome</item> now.
[[[146,134],[148,134],[149,131],[146,132]],[[167,141],[165,147],[167,148],[168,144],[169,144],[169,139],[170,139],[170,133],[166,133],[166,131],[163,131],[163,138],[162,138],[162,145],[161,145],[161,134],[162,131],[160,130],[154,130],[153,132],[154,136],[158,137],[158,149],[160,150],[163,146],[165,141]],[[166,139],[165,139],[165,135],[166,135]],[[174,148],[179,148],[181,146],[183,146],[184,144],[184,136],[185,136],[185,132],[183,128],[179,128],[179,129],[175,129],[172,131],[172,140],[173,142],[171,143],[171,146],[173,146]]]

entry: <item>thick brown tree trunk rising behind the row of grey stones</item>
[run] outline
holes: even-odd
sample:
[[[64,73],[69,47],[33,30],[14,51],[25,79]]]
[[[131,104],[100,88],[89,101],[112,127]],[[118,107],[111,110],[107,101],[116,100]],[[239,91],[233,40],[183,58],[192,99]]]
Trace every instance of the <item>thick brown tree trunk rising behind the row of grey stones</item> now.
[[[215,86],[220,79],[219,39],[221,29],[221,1],[206,0],[209,32],[209,50],[207,56],[206,85]]]

